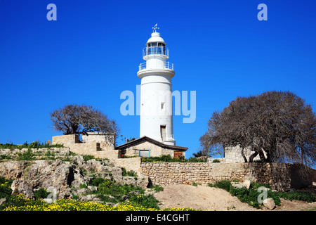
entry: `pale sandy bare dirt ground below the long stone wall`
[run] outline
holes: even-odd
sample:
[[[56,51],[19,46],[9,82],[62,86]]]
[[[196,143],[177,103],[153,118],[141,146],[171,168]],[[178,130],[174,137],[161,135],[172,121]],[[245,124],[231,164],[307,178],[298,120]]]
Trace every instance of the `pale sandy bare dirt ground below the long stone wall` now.
[[[247,203],[230,195],[220,188],[209,186],[190,186],[184,184],[164,186],[164,191],[155,193],[154,196],[162,203],[161,207],[191,207],[195,210],[237,210],[237,211],[258,211]],[[305,203],[298,200],[281,201],[277,210],[308,210],[316,207],[315,203]]]

